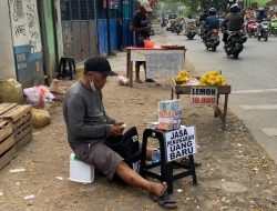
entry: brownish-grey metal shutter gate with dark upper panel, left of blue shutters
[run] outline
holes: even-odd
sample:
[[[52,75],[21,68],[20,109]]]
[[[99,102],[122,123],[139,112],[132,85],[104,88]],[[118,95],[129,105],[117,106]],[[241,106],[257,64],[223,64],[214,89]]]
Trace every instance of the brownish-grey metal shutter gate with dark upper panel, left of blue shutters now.
[[[84,60],[98,54],[95,0],[60,0],[63,53]]]

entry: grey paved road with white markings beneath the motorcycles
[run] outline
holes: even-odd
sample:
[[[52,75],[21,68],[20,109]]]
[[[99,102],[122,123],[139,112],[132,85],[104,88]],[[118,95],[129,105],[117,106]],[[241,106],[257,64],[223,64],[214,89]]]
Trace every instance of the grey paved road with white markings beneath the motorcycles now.
[[[226,57],[223,44],[216,52],[208,52],[198,37],[191,41],[166,34],[173,44],[186,46],[186,58],[199,73],[222,70],[232,84],[230,110],[277,163],[277,38],[268,42],[248,39],[238,60],[234,60]]]

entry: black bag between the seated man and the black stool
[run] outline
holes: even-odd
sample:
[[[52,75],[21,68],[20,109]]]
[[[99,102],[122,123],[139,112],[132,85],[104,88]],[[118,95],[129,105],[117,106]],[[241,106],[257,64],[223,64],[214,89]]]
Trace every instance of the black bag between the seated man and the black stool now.
[[[122,137],[107,139],[105,144],[117,152],[130,168],[141,159],[141,144],[135,127],[130,128]]]

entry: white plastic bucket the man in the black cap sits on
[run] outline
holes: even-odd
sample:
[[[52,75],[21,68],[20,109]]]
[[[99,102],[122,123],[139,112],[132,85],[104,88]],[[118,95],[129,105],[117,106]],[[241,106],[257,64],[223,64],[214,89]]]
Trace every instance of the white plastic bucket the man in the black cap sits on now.
[[[70,154],[70,177],[69,180],[82,183],[94,181],[94,167],[79,160],[74,153]]]

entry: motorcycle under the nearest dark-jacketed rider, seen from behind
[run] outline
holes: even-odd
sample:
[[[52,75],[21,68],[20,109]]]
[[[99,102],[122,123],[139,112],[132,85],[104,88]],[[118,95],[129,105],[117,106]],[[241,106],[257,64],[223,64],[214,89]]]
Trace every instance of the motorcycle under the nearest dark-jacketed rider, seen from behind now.
[[[234,59],[238,58],[238,54],[243,51],[243,31],[228,31],[227,43],[224,49],[227,56],[233,56]]]

